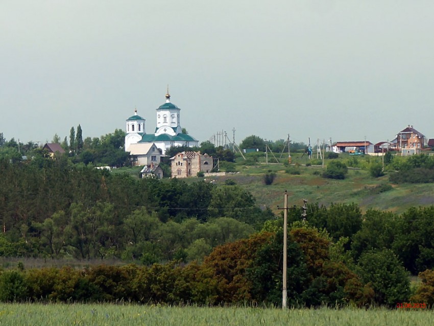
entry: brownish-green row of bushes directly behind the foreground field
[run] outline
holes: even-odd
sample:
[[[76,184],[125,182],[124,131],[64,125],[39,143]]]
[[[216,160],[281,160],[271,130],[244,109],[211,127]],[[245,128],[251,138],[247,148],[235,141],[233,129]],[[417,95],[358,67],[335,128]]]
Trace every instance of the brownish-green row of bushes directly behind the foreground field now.
[[[364,284],[328,254],[329,240],[316,229],[288,235],[288,299],[294,305],[369,302]],[[164,304],[281,304],[282,231],[261,232],[216,247],[199,265],[94,266],[4,271],[1,301],[133,301]]]

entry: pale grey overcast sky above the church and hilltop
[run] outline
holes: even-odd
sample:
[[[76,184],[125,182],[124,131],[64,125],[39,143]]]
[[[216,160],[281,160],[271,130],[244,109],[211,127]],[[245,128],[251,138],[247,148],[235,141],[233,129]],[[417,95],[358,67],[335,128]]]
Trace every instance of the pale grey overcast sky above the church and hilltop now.
[[[167,85],[181,126],[313,143],[434,138],[434,2],[2,0],[0,132],[147,132]]]

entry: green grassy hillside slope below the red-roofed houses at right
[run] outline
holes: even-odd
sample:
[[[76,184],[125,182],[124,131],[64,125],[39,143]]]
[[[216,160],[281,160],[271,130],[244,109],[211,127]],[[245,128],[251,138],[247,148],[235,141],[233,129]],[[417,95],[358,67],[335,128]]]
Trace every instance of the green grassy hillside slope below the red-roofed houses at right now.
[[[321,177],[325,168],[317,166],[299,165],[300,175],[285,173],[283,164],[243,166],[238,163],[237,169],[240,171],[238,174],[214,177],[216,183],[233,179],[249,190],[259,205],[269,206],[275,213],[277,205],[283,204],[285,190],[290,205],[302,205],[303,198],[306,198],[309,203],[318,202],[320,205],[356,203],[363,211],[374,208],[402,213],[412,206],[434,204],[433,184],[393,184],[390,188],[386,187],[391,185],[388,175],[374,178],[367,170],[349,169],[345,180],[333,180]],[[263,175],[269,170],[277,176],[273,184],[265,185]]]

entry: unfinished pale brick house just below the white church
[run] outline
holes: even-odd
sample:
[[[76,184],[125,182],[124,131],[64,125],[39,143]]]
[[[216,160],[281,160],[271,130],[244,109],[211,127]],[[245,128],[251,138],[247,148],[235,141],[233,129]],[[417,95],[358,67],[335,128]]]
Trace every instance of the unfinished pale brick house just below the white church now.
[[[196,176],[198,172],[211,172],[212,156],[201,152],[185,151],[171,157],[173,178]]]

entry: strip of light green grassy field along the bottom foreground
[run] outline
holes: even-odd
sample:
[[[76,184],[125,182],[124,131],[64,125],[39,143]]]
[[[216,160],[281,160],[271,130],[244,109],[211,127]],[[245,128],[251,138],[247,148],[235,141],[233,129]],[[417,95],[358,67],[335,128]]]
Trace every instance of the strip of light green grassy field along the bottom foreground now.
[[[432,325],[432,310],[0,305],[0,325]]]

